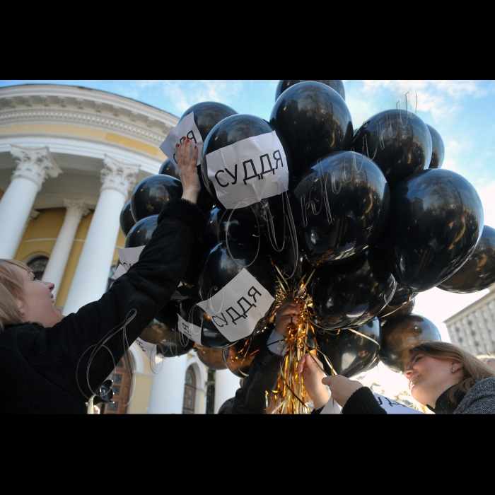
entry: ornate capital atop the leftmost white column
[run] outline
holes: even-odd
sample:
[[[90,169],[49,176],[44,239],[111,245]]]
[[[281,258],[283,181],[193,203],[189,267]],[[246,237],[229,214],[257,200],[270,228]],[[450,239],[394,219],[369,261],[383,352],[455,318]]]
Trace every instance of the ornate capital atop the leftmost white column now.
[[[38,192],[48,177],[57,177],[62,173],[59,165],[55,163],[48,146],[44,148],[24,148],[11,145],[11,155],[17,162],[12,179],[24,177],[32,180],[37,185]]]

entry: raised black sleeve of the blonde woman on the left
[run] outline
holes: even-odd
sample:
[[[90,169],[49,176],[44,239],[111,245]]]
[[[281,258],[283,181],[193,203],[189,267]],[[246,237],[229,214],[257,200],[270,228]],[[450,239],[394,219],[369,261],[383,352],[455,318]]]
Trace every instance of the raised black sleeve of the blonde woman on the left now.
[[[88,400],[168,303],[205,226],[205,216],[195,204],[184,199],[168,202],[139,261],[99,301],[43,329],[34,344],[22,349],[23,355],[55,385]]]

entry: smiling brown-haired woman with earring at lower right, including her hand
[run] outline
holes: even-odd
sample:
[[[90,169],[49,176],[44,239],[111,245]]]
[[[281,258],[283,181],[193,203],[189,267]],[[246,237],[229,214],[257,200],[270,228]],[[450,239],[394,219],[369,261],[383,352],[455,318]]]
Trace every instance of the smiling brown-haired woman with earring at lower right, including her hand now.
[[[404,376],[414,400],[436,414],[495,414],[495,371],[453,344],[414,347]],[[386,414],[373,392],[356,380],[334,375],[322,383],[343,414]]]

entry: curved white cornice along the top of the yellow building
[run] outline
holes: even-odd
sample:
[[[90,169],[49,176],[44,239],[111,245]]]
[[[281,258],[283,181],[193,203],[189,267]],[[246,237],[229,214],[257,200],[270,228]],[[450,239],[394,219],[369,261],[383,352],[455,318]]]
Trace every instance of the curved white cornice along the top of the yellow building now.
[[[0,127],[65,124],[99,129],[160,146],[178,118],[104,91],[57,85],[0,88]]]

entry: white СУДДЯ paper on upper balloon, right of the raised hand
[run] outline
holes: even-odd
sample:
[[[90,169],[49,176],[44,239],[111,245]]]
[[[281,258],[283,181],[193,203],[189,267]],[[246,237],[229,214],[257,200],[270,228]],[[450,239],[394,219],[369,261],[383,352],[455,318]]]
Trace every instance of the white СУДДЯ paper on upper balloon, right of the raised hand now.
[[[289,187],[287,160],[275,131],[212,151],[206,161],[208,177],[226,209],[243,208]]]

